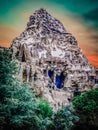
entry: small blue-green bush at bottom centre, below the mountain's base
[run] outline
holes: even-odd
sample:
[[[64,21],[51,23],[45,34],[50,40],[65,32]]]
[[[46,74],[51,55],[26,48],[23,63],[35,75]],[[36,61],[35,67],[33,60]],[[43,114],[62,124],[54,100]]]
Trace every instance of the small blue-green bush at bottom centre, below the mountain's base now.
[[[54,114],[55,130],[69,130],[79,120],[72,106],[65,106]]]

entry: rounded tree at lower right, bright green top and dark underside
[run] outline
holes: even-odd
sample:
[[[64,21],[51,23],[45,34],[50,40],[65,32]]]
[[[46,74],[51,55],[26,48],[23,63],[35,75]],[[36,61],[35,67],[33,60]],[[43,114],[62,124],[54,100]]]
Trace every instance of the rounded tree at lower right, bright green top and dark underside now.
[[[94,126],[98,129],[98,88],[77,96],[73,105],[80,117],[79,125]]]

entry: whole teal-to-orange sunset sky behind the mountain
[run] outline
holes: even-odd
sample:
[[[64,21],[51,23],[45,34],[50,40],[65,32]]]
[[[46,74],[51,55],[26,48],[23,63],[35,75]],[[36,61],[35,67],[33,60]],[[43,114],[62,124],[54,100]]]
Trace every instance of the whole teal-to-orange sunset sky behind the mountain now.
[[[98,67],[98,0],[1,0],[0,45],[9,47],[40,8],[63,23],[90,63]]]

